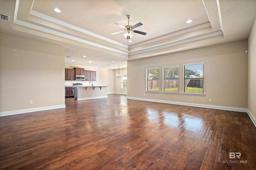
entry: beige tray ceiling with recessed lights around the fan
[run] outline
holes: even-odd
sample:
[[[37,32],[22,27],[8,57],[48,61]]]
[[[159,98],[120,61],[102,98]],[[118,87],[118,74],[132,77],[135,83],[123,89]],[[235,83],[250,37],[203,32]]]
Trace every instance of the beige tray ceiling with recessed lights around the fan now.
[[[117,69],[129,60],[247,39],[255,11],[256,0],[2,0],[0,14],[10,21],[0,20],[0,32],[61,45],[67,64]],[[126,15],[129,25],[143,24],[134,30],[147,33],[132,33],[131,43],[125,31],[110,34],[124,30],[114,23],[128,25]]]

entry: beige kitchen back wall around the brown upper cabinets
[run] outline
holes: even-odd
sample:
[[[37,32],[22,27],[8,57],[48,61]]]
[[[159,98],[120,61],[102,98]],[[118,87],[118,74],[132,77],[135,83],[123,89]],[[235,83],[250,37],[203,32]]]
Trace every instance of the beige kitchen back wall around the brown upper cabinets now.
[[[96,81],[93,81],[93,84],[96,86],[108,86],[108,93],[115,92],[115,75],[114,70],[108,68],[96,68],[90,66],[82,66],[82,65],[75,65],[75,64],[65,64],[65,68],[73,69],[75,67],[84,68],[88,71],[96,71]],[[90,85],[90,81],[65,81],[65,85],[73,85],[73,83],[83,83],[84,85]]]

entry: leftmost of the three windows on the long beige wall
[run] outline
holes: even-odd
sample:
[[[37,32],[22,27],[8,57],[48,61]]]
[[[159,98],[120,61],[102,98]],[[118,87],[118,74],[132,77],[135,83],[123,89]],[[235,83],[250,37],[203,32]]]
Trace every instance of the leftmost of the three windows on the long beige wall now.
[[[147,91],[159,92],[159,67],[147,68]]]

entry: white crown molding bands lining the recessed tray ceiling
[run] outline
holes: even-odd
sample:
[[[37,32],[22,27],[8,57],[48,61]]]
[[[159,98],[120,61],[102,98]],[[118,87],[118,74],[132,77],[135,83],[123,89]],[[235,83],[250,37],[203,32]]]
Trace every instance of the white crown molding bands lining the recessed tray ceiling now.
[[[163,49],[163,48],[166,48],[166,47],[172,47],[174,45],[181,45],[181,44],[184,44],[184,43],[190,43],[190,42],[193,42],[193,41],[198,41],[198,40],[214,37],[214,36],[217,36],[217,35],[223,35],[222,31],[216,31],[216,32],[213,32],[213,33],[208,33],[208,34],[200,35],[200,36],[197,36],[197,37],[192,37],[192,38],[183,39],[183,40],[174,40],[174,41],[169,41],[169,42],[166,42],[166,43],[161,43],[161,44],[158,44],[158,45],[153,45],[153,46],[146,47],[144,49],[141,49],[141,50],[138,50],[138,51],[133,51],[133,52],[129,53],[129,49],[132,49],[134,47],[139,47],[141,45],[146,45],[146,44],[149,44],[149,43],[153,43],[153,42],[160,41],[160,40],[163,40],[163,39],[168,39],[170,37],[174,37],[174,36],[181,35],[181,34],[184,34],[184,33],[189,33],[191,31],[196,31],[198,29],[210,27],[211,24],[210,24],[210,22],[204,23],[204,24],[201,24],[201,25],[198,25],[198,26],[195,26],[195,27],[191,27],[191,28],[188,28],[188,29],[177,31],[175,33],[171,33],[171,34],[168,34],[168,35],[164,35],[164,36],[161,36],[161,37],[150,39],[150,40],[144,41],[142,43],[138,43],[138,44],[135,44],[135,45],[128,46],[128,45],[124,45],[122,43],[119,43],[117,41],[114,41],[112,39],[108,39],[106,37],[98,35],[96,33],[90,32],[88,30],[82,29],[82,28],[77,27],[75,25],[66,23],[64,21],[60,21],[60,20],[58,20],[56,18],[52,18],[52,17],[47,16],[45,14],[42,14],[40,12],[34,11],[34,10],[32,10],[32,7],[30,9],[30,15],[32,15],[32,16],[35,16],[35,17],[38,17],[38,18],[42,18],[42,19],[50,21],[52,23],[56,23],[58,25],[62,25],[64,27],[67,27],[67,28],[79,31],[81,33],[85,33],[87,35],[96,37],[98,39],[102,39],[104,41],[107,41],[107,42],[119,45],[121,47],[125,47],[127,49],[127,51],[126,50],[122,51],[122,50],[111,48],[111,47],[108,47],[108,46],[105,46],[105,45],[100,45],[98,43],[94,43],[94,42],[91,42],[91,41],[88,41],[88,40],[85,40],[85,39],[81,39],[81,38],[78,38],[76,36],[68,35],[66,33],[55,31],[53,29],[45,28],[45,27],[42,27],[42,26],[39,26],[39,25],[36,25],[36,24],[33,24],[33,23],[29,23],[29,22],[26,22],[26,21],[18,20],[17,19],[17,14],[18,14],[19,2],[20,2],[20,0],[16,0],[16,8],[15,8],[15,14],[14,14],[14,23],[15,24],[18,24],[18,25],[21,25],[21,26],[24,26],[24,27],[28,27],[30,29],[34,29],[34,30],[37,30],[37,31],[42,31],[44,33],[48,33],[48,34],[51,34],[51,35],[56,35],[56,36],[63,37],[63,38],[66,38],[66,39],[74,40],[74,41],[77,41],[77,42],[80,42],[80,43],[92,45],[94,47],[99,47],[101,49],[110,50],[110,51],[113,51],[113,52],[116,52],[116,53],[120,53],[120,54],[123,54],[123,55],[127,55],[127,56],[147,53],[147,52],[150,52],[150,51],[152,52],[152,51],[155,51],[155,50],[158,50],[158,49]],[[33,3],[34,3],[34,1],[33,1]],[[221,18],[220,18],[220,21],[221,21]]]

